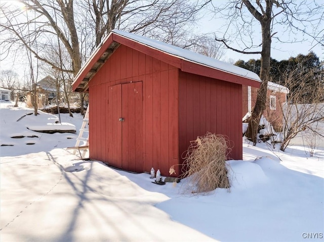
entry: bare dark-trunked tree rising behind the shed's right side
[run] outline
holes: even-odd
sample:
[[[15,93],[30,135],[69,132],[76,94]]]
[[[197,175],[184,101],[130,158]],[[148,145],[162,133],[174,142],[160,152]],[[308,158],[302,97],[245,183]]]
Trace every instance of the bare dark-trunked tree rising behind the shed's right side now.
[[[249,121],[247,136],[256,144],[260,118],[266,108],[266,93],[270,71],[271,41],[290,42],[296,39],[284,39],[290,36],[287,32],[302,32],[314,39],[316,44],[323,40],[322,28],[318,28],[323,20],[323,5],[316,1],[291,1],[291,0],[250,0],[227,1],[224,6],[215,6],[218,2],[209,1],[213,11],[227,19],[227,30],[223,37],[216,37],[228,49],[242,54],[260,54],[261,87],[257,94],[257,100]],[[260,30],[255,26],[259,25]],[[233,27],[235,30],[231,29]],[[286,34],[279,35],[276,31],[284,28]],[[256,43],[256,33],[261,32],[261,42]],[[242,49],[235,49],[229,40],[239,40]],[[299,40],[300,41],[300,40]]]

